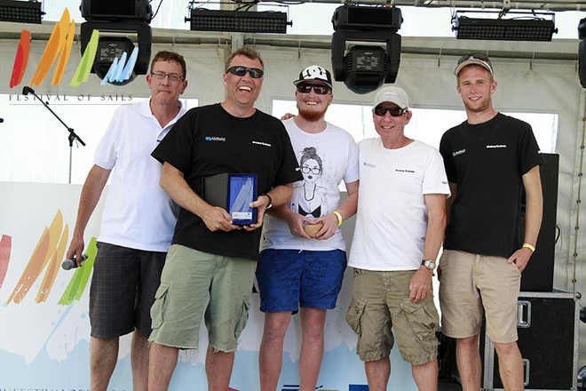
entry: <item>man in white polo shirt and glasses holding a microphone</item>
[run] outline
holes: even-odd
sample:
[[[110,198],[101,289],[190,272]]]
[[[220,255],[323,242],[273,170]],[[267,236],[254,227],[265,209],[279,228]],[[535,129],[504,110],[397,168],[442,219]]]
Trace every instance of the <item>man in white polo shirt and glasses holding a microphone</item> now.
[[[150,309],[178,216],[159,186],[162,167],[151,152],[186,112],[179,100],[187,87],[183,56],[158,52],[147,84],[150,100],[118,108],[99,142],[67,250],[67,259],[75,256],[81,265],[85,227],[112,174],[91,278],[92,391],[107,389],[119,338],[130,332],[132,389],[147,390]]]

